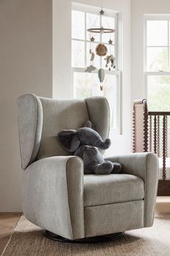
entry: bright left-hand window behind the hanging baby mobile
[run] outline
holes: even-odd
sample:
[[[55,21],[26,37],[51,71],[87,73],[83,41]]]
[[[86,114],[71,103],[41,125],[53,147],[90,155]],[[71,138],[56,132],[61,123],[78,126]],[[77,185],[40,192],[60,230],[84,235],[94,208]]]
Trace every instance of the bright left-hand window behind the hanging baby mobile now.
[[[99,8],[89,7],[81,4],[73,4],[72,26],[71,26],[71,66],[73,77],[73,95],[75,98],[86,98],[92,95],[104,95],[110,107],[111,127],[120,129],[120,82],[121,82],[121,47],[120,47],[120,14],[105,10],[104,17],[99,15]],[[90,38],[87,28],[93,23],[100,27],[115,28],[112,34],[95,34],[94,43],[91,44],[93,51],[98,43],[102,42],[107,46],[108,51],[112,51],[116,59],[116,68],[107,70],[105,61],[99,56],[95,56],[96,70],[85,72],[90,65]],[[108,40],[113,41],[109,45]],[[99,88],[98,69],[105,69],[104,90]]]

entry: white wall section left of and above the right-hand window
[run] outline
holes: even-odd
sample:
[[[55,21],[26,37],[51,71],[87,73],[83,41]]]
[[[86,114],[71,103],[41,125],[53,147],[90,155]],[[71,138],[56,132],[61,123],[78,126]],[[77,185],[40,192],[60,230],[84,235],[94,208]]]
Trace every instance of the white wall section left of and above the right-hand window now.
[[[145,98],[143,76],[143,16],[170,14],[169,0],[132,0],[132,101]]]

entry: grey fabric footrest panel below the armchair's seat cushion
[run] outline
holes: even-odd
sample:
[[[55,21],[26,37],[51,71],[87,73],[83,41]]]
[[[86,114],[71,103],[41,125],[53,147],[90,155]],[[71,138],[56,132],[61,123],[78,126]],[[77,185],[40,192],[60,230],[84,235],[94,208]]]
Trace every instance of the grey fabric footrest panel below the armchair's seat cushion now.
[[[84,214],[87,237],[143,228],[143,200],[86,207]]]

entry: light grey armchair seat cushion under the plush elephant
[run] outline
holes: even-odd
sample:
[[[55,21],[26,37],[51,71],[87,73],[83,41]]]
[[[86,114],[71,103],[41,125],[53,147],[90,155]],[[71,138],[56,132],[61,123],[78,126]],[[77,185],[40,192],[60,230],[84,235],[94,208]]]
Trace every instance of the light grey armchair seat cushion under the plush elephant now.
[[[142,200],[144,182],[130,174],[84,175],[84,206]]]

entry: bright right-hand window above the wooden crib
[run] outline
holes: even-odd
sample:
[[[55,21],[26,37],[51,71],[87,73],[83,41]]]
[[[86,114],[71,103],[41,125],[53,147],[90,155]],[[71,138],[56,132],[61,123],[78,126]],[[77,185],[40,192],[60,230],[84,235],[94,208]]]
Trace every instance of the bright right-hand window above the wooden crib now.
[[[170,16],[145,17],[145,83],[149,111],[170,111]]]

